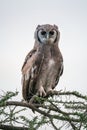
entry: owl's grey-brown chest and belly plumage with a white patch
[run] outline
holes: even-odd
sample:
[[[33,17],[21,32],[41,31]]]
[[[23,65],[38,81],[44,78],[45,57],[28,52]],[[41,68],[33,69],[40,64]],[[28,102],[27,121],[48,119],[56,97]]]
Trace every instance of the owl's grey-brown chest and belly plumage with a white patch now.
[[[58,53],[55,48],[45,48],[43,51],[44,59],[39,73],[39,80],[44,87],[50,86],[50,83],[54,84],[58,75],[60,66]]]

